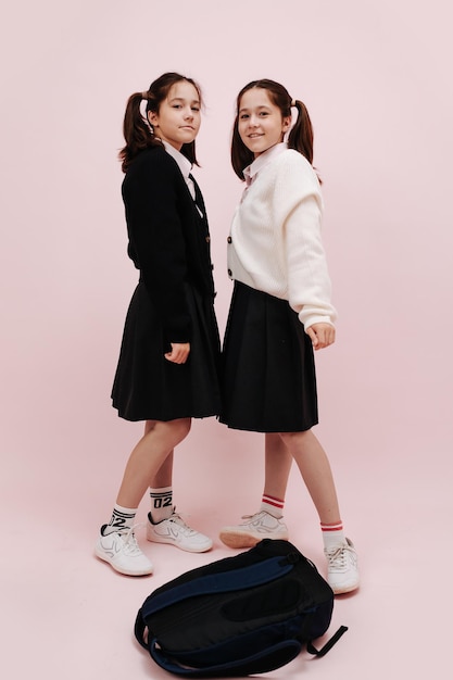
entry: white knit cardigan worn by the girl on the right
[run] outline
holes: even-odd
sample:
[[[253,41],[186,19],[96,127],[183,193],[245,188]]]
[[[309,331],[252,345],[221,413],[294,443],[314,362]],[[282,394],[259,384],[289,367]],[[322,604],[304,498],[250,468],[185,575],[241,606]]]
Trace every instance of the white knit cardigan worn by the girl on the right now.
[[[260,155],[249,171],[252,184],[236,209],[228,239],[229,277],[288,300],[305,329],[334,325],[316,173],[286,143]]]

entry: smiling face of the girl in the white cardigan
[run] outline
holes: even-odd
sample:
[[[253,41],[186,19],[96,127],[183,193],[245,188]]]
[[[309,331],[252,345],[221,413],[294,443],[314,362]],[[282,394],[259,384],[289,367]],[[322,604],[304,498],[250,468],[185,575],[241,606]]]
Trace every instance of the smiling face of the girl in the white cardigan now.
[[[270,101],[267,90],[253,87],[242,95],[238,133],[255,158],[282,141],[290,125],[291,116],[282,117],[279,108]]]

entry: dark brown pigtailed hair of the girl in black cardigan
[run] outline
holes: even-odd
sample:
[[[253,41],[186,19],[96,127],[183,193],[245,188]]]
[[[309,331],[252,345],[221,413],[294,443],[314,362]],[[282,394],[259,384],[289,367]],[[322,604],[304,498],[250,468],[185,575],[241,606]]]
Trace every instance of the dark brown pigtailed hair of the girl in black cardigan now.
[[[202,95],[200,86],[192,80],[192,78],[187,78],[179,73],[164,73],[151,83],[147,91],[135,92],[127,100],[123,122],[123,135],[126,144],[118,153],[119,161],[122,162],[122,171],[124,173],[127,172],[130,163],[141,151],[148,149],[148,147],[162,144],[162,141],[155,137],[152,126],[148,122],[148,112],[159,113],[159,108],[167,98],[171,88],[181,80],[193,85],[201,104]],[[147,100],[146,116],[143,116],[140,111],[140,105],[143,100]],[[194,165],[199,164],[196,155],[194,140],[188,144],[183,144],[181,153]]]

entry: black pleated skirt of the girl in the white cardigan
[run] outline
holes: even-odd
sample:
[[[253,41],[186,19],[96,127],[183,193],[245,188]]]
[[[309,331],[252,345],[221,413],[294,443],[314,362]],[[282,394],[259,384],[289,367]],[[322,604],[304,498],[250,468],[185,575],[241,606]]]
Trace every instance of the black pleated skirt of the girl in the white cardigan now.
[[[317,424],[312,341],[286,300],[236,281],[222,364],[221,423],[256,432]]]

